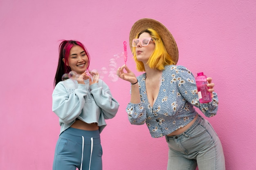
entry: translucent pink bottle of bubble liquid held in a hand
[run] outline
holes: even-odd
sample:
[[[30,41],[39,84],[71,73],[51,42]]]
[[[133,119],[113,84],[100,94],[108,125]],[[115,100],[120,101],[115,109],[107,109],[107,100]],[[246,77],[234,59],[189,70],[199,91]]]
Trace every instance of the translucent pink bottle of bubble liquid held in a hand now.
[[[198,88],[198,97],[199,97],[199,102],[200,103],[209,103],[211,102],[211,93],[208,92],[208,87],[207,87],[207,76],[204,75],[203,72],[198,73],[198,76],[195,77],[195,83]]]

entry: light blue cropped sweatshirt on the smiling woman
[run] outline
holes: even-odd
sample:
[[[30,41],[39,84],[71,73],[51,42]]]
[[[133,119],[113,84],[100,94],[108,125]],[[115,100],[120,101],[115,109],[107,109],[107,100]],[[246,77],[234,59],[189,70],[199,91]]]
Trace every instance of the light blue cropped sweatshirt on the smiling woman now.
[[[89,85],[89,79],[85,84],[67,79],[59,82],[52,93],[52,111],[59,117],[60,133],[69,128],[76,118],[88,124],[97,123],[102,132],[107,125],[105,119],[115,117],[118,108],[119,103],[101,79],[92,85]]]

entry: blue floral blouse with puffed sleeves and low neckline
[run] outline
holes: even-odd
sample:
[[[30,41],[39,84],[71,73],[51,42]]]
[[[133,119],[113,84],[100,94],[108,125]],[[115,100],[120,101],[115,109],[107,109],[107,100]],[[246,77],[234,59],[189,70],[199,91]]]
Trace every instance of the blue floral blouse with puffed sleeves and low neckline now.
[[[146,93],[146,73],[139,75],[137,79],[141,102],[129,103],[126,112],[131,124],[141,125],[146,122],[152,137],[163,137],[189,124],[197,114],[193,106],[198,107],[207,117],[217,113],[217,94],[213,92],[212,102],[199,103],[195,78],[184,66],[165,66],[153,107],[150,106]]]

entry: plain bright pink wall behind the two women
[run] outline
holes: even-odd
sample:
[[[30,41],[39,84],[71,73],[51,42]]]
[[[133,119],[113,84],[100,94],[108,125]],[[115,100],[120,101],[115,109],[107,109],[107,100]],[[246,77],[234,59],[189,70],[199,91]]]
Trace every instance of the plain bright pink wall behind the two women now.
[[[208,120],[222,141],[227,170],[256,169],[255,0],[0,0],[0,170],[52,169],[60,130],[52,112],[59,40],[83,42],[90,68],[108,68],[140,18],[171,31],[178,64],[213,78],[220,104]],[[128,46],[127,65],[139,75],[131,57]],[[103,169],[165,170],[165,139],[128,121],[130,84],[103,80],[120,103],[101,133]]]

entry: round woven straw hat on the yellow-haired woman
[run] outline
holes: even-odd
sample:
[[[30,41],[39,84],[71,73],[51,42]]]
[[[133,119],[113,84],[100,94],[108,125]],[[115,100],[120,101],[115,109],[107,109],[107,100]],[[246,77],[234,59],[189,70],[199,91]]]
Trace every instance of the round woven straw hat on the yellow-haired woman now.
[[[148,28],[157,31],[157,33],[160,35],[164,42],[164,46],[166,47],[167,53],[172,57],[175,64],[177,64],[179,59],[179,51],[177,44],[173,38],[173,35],[171,35],[170,31],[161,22],[158,22],[157,20],[153,20],[150,18],[142,18],[133,24],[129,38],[131,51],[132,39],[134,39],[139,32],[144,31]]]

